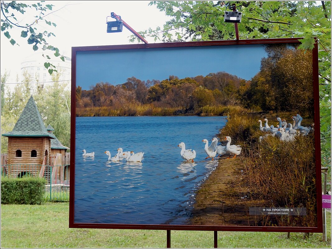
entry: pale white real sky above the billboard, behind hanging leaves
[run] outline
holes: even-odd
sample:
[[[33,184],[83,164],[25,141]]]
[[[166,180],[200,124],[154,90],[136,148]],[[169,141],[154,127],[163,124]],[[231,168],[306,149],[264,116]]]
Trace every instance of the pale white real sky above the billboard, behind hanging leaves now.
[[[35,1],[20,1],[32,4]],[[53,10],[61,10],[45,17],[57,25],[53,28],[39,22],[39,31],[51,31],[56,37],[49,38],[50,44],[58,47],[60,52],[66,52],[71,57],[72,46],[94,46],[94,45],[115,45],[129,44],[128,37],[132,34],[125,27],[121,33],[107,33],[106,17],[115,12],[131,26],[135,31],[156,28],[168,20],[163,12],[155,6],[148,6],[150,1],[45,1],[45,4],[53,4]],[[32,23],[34,15],[27,12],[23,17],[23,25]],[[1,17],[3,18],[3,17]],[[110,20],[115,20],[109,18]],[[18,19],[20,20],[20,19]],[[16,82],[16,74],[20,74],[21,62],[34,53],[32,45],[28,45],[27,38],[21,38],[21,31],[9,31],[20,46],[10,44],[9,40],[1,32],[1,73],[4,70],[10,71],[9,82]],[[146,38],[149,43],[154,43],[153,39]],[[160,42],[160,41],[156,41]],[[137,42],[135,42],[137,43]],[[41,48],[36,52],[41,52]],[[41,57],[41,60],[43,58]]]

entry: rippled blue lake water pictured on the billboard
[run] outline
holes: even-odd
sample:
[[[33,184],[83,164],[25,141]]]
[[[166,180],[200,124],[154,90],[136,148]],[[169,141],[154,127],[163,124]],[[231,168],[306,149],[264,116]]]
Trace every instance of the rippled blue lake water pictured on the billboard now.
[[[226,117],[77,117],[75,223],[187,224],[195,191],[215,169],[205,160]],[[181,156],[180,142],[196,150],[194,163]],[[144,152],[141,163],[108,161],[117,148]],[[83,157],[82,150],[95,152]]]

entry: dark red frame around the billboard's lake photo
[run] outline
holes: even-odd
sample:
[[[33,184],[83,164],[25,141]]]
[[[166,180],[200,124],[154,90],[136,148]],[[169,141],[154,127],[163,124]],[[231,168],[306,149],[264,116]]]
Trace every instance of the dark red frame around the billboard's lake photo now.
[[[319,232],[323,231],[322,221],[322,186],[321,186],[321,147],[320,147],[320,116],[319,116],[319,82],[318,82],[318,46],[312,51],[313,91],[314,91],[314,123],[315,123],[315,159],[316,159],[316,201],[317,201],[317,227],[267,227],[267,226],[211,226],[211,225],[160,225],[160,224],[108,224],[108,223],[75,223],[75,117],[76,117],[76,52],[101,51],[114,49],[141,49],[141,48],[168,48],[216,45],[252,45],[252,44],[278,44],[300,43],[300,38],[282,39],[252,39],[229,41],[190,41],[169,43],[147,43],[126,45],[104,45],[72,47],[71,61],[71,134],[70,148],[73,153],[70,157],[70,198],[69,198],[69,227],[70,228],[113,228],[113,229],[153,229],[153,230],[202,230],[202,231],[262,231],[262,232]]]

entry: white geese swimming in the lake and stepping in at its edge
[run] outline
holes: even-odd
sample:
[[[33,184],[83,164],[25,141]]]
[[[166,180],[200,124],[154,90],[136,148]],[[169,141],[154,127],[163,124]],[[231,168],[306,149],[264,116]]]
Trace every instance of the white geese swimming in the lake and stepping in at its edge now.
[[[202,142],[205,143],[204,150],[207,153],[207,158],[212,158],[218,154],[218,156],[225,155],[229,153],[230,155],[234,156],[234,158],[241,153],[241,146],[240,145],[230,145],[231,143],[231,138],[229,136],[225,137],[225,140],[227,141],[226,146],[219,145],[218,146],[218,139],[214,137],[212,139],[212,142],[210,146],[208,146],[208,141],[207,139],[203,139]],[[183,159],[186,161],[191,161],[194,162],[194,159],[196,158],[196,151],[192,149],[186,149],[186,145],[184,142],[179,143],[178,147],[181,148],[180,155]],[[141,162],[142,157],[144,156],[144,152],[138,152],[134,153],[133,151],[123,151],[122,148],[117,149],[118,153],[114,156],[111,157],[111,152],[110,151],[105,151],[104,153],[108,155],[108,160],[111,162],[119,162],[121,160],[126,160],[127,162]],[[86,150],[82,150],[83,154],[82,156],[95,156],[95,152],[90,152],[87,153]]]

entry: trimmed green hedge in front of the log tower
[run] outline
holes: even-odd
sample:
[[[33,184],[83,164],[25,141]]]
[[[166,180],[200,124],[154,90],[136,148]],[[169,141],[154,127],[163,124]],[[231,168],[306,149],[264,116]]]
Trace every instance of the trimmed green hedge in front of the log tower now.
[[[37,177],[1,178],[1,204],[41,204],[46,181]]]

